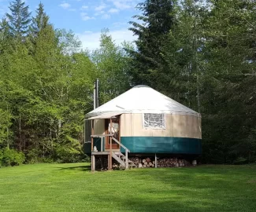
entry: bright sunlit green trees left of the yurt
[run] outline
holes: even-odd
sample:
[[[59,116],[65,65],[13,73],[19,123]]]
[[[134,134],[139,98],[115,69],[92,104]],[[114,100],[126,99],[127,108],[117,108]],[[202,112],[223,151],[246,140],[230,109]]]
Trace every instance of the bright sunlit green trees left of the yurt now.
[[[95,64],[72,31],[54,29],[42,3],[32,25],[24,2],[10,7],[14,22],[24,17],[17,31],[12,21],[0,27],[0,148],[23,152],[26,163],[79,161]]]

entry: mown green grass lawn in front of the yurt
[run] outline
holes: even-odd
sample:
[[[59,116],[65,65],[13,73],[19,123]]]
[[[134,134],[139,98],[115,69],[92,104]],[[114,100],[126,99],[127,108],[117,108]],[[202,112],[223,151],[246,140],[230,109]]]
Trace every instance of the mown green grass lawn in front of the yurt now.
[[[0,211],[256,211],[256,166],[0,168]]]

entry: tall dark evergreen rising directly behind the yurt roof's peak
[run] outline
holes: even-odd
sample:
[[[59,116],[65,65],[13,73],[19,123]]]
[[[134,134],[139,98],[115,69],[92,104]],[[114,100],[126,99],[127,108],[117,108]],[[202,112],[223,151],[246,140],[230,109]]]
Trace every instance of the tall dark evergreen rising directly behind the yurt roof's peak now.
[[[132,27],[129,28],[138,36],[135,41],[138,50],[130,52],[134,58],[132,75],[135,84],[153,86],[164,80],[162,77],[168,70],[161,55],[162,46],[175,24],[175,5],[176,1],[173,0],[147,0],[139,3],[138,8],[143,14],[133,16],[138,22],[131,21]]]

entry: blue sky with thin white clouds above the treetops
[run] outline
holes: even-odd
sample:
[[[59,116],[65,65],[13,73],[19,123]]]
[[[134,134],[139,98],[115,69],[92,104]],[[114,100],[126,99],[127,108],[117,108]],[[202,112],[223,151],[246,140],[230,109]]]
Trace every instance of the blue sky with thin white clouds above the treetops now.
[[[0,0],[0,17],[9,12],[10,0]],[[42,2],[50,22],[56,28],[72,30],[83,48],[95,49],[103,28],[109,28],[117,44],[135,37],[128,31],[128,21],[139,14],[135,6],[142,0],[25,0],[32,14]]]

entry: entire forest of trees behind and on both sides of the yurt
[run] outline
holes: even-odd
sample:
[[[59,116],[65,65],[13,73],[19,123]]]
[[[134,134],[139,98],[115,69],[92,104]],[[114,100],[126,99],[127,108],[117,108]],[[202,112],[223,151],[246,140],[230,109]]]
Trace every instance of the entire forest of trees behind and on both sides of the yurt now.
[[[135,41],[117,43],[104,28],[95,49],[55,27],[47,2],[36,9],[7,3],[0,13],[2,166],[86,159],[83,122],[95,79],[99,105],[145,85],[200,113],[200,163],[255,162],[254,1],[137,3],[126,20]],[[59,7],[72,12],[68,3]]]

